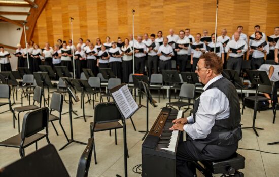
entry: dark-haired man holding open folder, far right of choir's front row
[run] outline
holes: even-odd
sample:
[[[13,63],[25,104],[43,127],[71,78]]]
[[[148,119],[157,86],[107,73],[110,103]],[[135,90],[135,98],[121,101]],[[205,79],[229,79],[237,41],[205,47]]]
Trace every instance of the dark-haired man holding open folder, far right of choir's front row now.
[[[263,39],[262,37],[262,32],[256,32],[256,40],[252,43],[251,46],[257,47],[261,45],[261,43],[265,41],[265,39]],[[249,54],[252,55],[251,69],[259,69],[260,66],[264,63],[264,55],[269,54],[269,45],[267,44],[266,46],[258,47],[257,49],[250,48]]]

